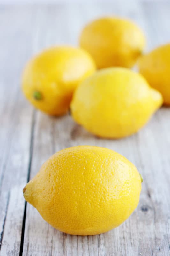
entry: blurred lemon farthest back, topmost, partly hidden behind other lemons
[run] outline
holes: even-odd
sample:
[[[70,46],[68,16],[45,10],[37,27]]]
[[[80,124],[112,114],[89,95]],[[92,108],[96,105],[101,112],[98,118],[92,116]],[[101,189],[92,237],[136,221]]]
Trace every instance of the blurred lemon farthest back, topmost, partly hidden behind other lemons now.
[[[129,68],[141,55],[145,36],[130,20],[104,17],[85,26],[80,46],[90,52],[98,68]]]

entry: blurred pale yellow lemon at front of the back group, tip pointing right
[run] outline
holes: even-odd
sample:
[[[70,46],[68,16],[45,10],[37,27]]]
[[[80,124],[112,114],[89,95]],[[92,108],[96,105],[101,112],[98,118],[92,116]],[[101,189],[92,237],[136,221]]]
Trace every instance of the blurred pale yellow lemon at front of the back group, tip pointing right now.
[[[73,119],[89,132],[121,138],[137,132],[161,104],[161,94],[140,74],[106,68],[78,86],[70,106]]]

